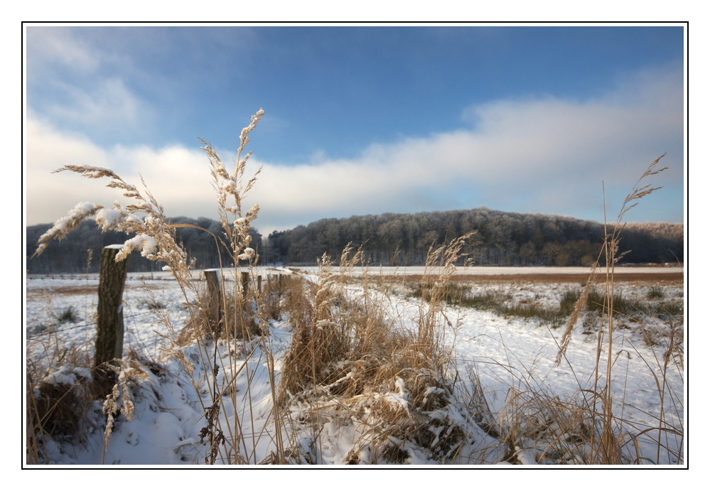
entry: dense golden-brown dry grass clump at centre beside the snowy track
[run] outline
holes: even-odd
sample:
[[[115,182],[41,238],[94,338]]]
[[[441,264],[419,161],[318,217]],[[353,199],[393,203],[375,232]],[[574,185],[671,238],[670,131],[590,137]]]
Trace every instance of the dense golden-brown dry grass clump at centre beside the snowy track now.
[[[446,283],[467,238],[431,251],[431,266],[441,268],[432,284]],[[456,460],[485,435],[456,387],[451,350],[442,342],[446,319],[435,299],[438,287],[413,322],[405,322],[388,315],[389,299],[371,288],[367,271],[348,291],[348,270],[362,260],[360,252],[350,252],[340,258],[338,273],[323,258],[315,281],[302,281],[290,293],[294,338],[277,400],[291,439],[284,455],[269,462],[324,463],[335,438],[348,451],[333,463]],[[334,435],[334,427],[343,434]]]

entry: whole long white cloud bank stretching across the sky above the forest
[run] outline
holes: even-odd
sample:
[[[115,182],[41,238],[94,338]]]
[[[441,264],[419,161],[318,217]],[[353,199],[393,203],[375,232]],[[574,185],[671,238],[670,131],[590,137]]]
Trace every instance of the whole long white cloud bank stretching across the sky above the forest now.
[[[669,189],[682,183],[682,86],[676,75],[637,77],[590,101],[490,102],[468,110],[475,117],[470,128],[373,145],[349,160],[318,156],[312,165],[262,163],[247,206],[261,206],[255,225],[262,233],[321,217],[479,205],[580,217],[593,210],[599,219],[602,181],[615,207],[645,166],[665,151],[671,153],[663,164],[672,170],[664,182]],[[55,220],[78,200],[94,199],[88,196],[96,195],[98,183],[89,183],[89,190],[86,183],[76,184],[85,181],[78,176],[70,176],[70,183],[68,176],[58,181],[48,175],[70,162],[114,168],[135,183],[141,173],[168,215],[216,217],[207,159],[199,150],[100,149],[33,119],[26,146],[29,223]],[[255,171],[259,149],[253,150],[249,166]],[[109,194],[99,203],[112,203]],[[665,211],[682,216],[682,194],[666,194]]]

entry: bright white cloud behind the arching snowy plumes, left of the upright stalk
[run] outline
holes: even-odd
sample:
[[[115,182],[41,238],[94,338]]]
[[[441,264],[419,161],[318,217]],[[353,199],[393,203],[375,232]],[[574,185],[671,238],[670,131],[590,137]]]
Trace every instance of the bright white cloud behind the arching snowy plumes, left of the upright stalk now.
[[[54,222],[80,201],[110,206],[127,203],[107,181],[90,180],[69,172],[53,174],[68,165],[111,168],[141,189],[141,176],[169,215],[214,215],[207,159],[200,150],[169,146],[102,149],[81,136],[54,129],[28,118],[25,129],[26,200],[28,224]]]

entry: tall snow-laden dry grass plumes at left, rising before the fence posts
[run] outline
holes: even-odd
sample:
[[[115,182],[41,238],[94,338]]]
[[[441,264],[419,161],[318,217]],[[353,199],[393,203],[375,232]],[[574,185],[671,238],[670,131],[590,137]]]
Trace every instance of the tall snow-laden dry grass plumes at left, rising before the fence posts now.
[[[214,306],[207,296],[199,291],[188,254],[176,239],[176,228],[195,226],[169,222],[163,207],[147,190],[145,183],[143,183],[144,190],[141,191],[109,169],[75,165],[60,168],[58,172],[70,171],[86,178],[108,180],[107,187],[122,193],[124,198],[128,198],[129,204],[114,203],[112,207],[94,203],[78,204],[41,236],[35,253],[41,254],[50,241],[63,239],[82,220],[92,217],[104,231],[116,230],[133,235],[117,254],[117,261],[125,259],[128,254],[137,250],[144,257],[165,264],[163,269],[173,274],[181,288],[190,321],[184,328],[176,328],[170,319],[158,311],[158,316],[166,324],[168,332],[173,333],[165,338],[164,351],[181,361],[185,374],[188,374],[193,382],[195,394],[200,398],[200,405],[205,414],[205,426],[200,432],[200,437],[208,441],[210,446],[205,458],[206,463],[254,463],[253,450],[247,450],[254,445],[247,445],[245,440],[250,438],[253,443],[261,437],[253,432],[249,436],[242,433],[242,419],[253,421],[254,409],[250,404],[250,398],[247,398],[247,404],[244,406],[237,397],[235,380],[244,369],[245,358],[249,355],[271,357],[267,342],[264,342],[264,330],[259,328],[259,325],[264,327],[267,325],[267,309],[264,309],[267,297],[262,293],[254,293],[254,288],[251,290],[242,288],[241,281],[236,280],[240,278],[242,271],[246,271],[254,279],[254,264],[257,256],[251,247],[252,237],[249,235],[249,226],[257,218],[259,207],[255,205],[249,210],[244,210],[242,200],[256,181],[256,174],[251,178],[244,176],[251,155],[251,152],[246,152],[245,147],[249,143],[249,132],[257,126],[263,114],[264,112],[259,110],[252,117],[249,126],[242,130],[240,146],[231,171],[227,171],[227,166],[222,163],[213,147],[203,141],[203,150],[208,156],[213,184],[217,191],[223,229],[220,235],[212,234],[207,230],[204,232],[213,235],[215,246],[220,243],[227,244],[230,250],[230,257],[220,258],[220,264],[223,264],[220,268],[220,276],[225,279],[220,281],[222,306],[219,309],[220,319],[217,320],[221,326],[220,330],[215,330],[213,325]],[[217,252],[220,250],[219,247],[215,249]],[[240,263],[245,262],[248,265],[240,267]],[[228,277],[234,278],[235,281],[227,281]],[[267,293],[267,296],[269,294]],[[186,344],[197,347],[198,365],[205,367],[199,374],[195,372],[195,362],[183,355],[181,345]],[[273,367],[272,361],[269,362],[269,366]],[[110,394],[103,394],[106,395],[104,402],[104,412],[107,414],[106,443],[110,438],[112,419],[119,412],[129,418],[131,416],[131,396],[126,380],[134,379],[135,382],[139,372],[146,371],[136,368],[134,363],[119,364],[116,386]],[[271,378],[274,379],[273,374]],[[31,378],[28,379],[29,387],[36,387]],[[209,389],[205,391],[205,387]],[[36,392],[36,389],[34,391]],[[43,420],[48,419],[48,416],[40,414],[40,409],[43,407],[42,398],[41,394],[36,396],[35,392],[28,396],[28,421],[30,421],[28,427],[45,428],[46,424]],[[225,397],[222,394],[230,394],[230,396]],[[230,419],[222,417],[225,411],[233,414],[234,417]],[[279,425],[276,427],[278,428]],[[33,429],[28,429],[28,432],[36,433]],[[36,438],[28,438],[28,441],[34,442]],[[28,453],[38,455],[39,452],[28,450]]]

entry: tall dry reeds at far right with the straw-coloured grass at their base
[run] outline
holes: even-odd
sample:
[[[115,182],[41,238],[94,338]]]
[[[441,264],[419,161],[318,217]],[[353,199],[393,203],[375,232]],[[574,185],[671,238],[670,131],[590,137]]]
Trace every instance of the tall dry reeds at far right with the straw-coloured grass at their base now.
[[[602,330],[598,337],[593,388],[580,387],[581,390],[576,399],[561,400],[559,397],[549,396],[547,392],[539,388],[533,389],[530,387],[529,381],[520,379],[518,384],[521,384],[525,389],[511,387],[507,403],[499,415],[502,418],[499,423],[500,431],[505,435],[505,441],[509,447],[507,460],[515,460],[517,463],[542,463],[544,460],[553,460],[556,463],[602,465],[641,463],[639,458],[640,439],[646,438],[653,432],[656,433],[656,463],[661,461],[661,452],[668,453],[667,460],[670,462],[679,463],[682,460],[682,450],[673,449],[682,448],[682,428],[669,425],[664,418],[667,399],[674,407],[681,408],[682,412],[682,402],[680,401],[682,398],[669,390],[666,378],[669,360],[673,358],[671,353],[677,350],[674,342],[677,335],[672,335],[672,340],[669,340],[663,356],[657,357],[657,369],[652,367],[648,360],[644,360],[656,378],[660,396],[660,419],[657,428],[637,428],[633,422],[625,420],[623,410],[626,403],[624,399],[620,401],[621,416],[615,416],[615,405],[618,402],[612,398],[611,376],[616,358],[613,347],[613,330],[615,329],[615,315],[618,315],[614,304],[616,296],[615,263],[625,255],[625,252],[621,252],[620,249],[620,234],[624,228],[623,217],[628,210],[638,204],[635,203],[637,200],[659,189],[650,188],[650,185],[642,185],[642,180],[665,170],[656,170],[655,168],[660,158],[662,156],[650,164],[632,192],[627,195],[618,219],[613,225],[613,230],[605,232],[605,247],[574,305],[559,346],[555,360],[556,365],[559,365],[564,357],[579,314],[586,306],[598,264],[602,260],[605,261],[606,281],[602,318],[606,329]],[[674,330],[674,325],[671,325],[670,330]],[[606,342],[606,346],[603,346],[604,342]],[[633,344],[630,344],[633,347]],[[638,350],[637,353],[640,354]],[[603,360],[605,354],[606,360]],[[682,367],[682,361],[679,365]],[[604,370],[605,368],[606,370]],[[600,376],[600,372],[603,371],[603,375]],[[658,375],[655,374],[656,371],[659,373]],[[601,384],[601,388],[598,384]],[[679,419],[682,420],[682,418]],[[574,428],[577,428],[576,433],[569,439],[569,432]],[[674,447],[671,443],[672,438],[676,438],[674,443],[679,443],[680,446]],[[574,443],[574,445],[571,446],[570,443]]]

